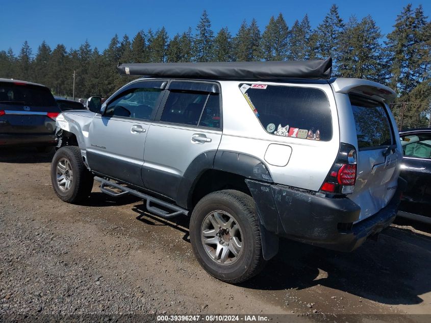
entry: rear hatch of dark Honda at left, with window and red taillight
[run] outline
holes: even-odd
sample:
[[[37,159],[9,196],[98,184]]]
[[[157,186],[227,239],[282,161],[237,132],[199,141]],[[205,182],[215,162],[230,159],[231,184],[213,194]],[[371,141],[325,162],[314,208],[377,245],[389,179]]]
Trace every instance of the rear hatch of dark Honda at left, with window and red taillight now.
[[[0,82],[0,134],[54,133],[55,118],[59,113],[48,88]]]

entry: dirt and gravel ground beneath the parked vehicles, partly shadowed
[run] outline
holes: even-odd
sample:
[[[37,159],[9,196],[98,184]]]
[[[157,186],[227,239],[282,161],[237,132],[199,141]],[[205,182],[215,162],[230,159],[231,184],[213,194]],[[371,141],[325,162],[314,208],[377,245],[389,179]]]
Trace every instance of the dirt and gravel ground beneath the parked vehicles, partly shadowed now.
[[[187,218],[145,213],[95,184],[63,203],[52,154],[0,150],[0,313],[291,314],[289,321],[429,321],[431,228],[399,222],[343,254],[290,241],[261,275],[233,286],[201,269]],[[1,319],[0,319],[1,321]]]

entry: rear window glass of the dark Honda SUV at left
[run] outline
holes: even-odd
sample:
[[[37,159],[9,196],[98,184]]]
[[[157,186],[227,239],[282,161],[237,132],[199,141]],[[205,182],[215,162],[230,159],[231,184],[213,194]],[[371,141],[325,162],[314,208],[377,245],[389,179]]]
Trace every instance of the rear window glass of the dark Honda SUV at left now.
[[[46,87],[12,82],[0,82],[0,104],[57,106],[53,94]]]

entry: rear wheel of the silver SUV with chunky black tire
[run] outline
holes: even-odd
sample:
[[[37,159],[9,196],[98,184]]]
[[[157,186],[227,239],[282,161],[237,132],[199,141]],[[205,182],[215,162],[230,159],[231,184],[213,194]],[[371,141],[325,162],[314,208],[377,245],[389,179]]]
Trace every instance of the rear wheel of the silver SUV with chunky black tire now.
[[[246,281],[265,265],[255,202],[240,191],[213,192],[197,203],[190,242],[200,265],[227,283]]]

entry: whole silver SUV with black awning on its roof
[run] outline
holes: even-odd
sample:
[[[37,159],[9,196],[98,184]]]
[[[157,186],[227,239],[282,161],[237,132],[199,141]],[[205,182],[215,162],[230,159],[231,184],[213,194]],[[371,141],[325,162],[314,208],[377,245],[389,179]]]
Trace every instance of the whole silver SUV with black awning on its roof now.
[[[55,192],[78,203],[96,180],[190,214],[197,260],[229,283],[258,274],[278,237],[352,251],[395,218],[401,144],[394,91],[331,65],[119,64],[147,77],[57,118]]]

